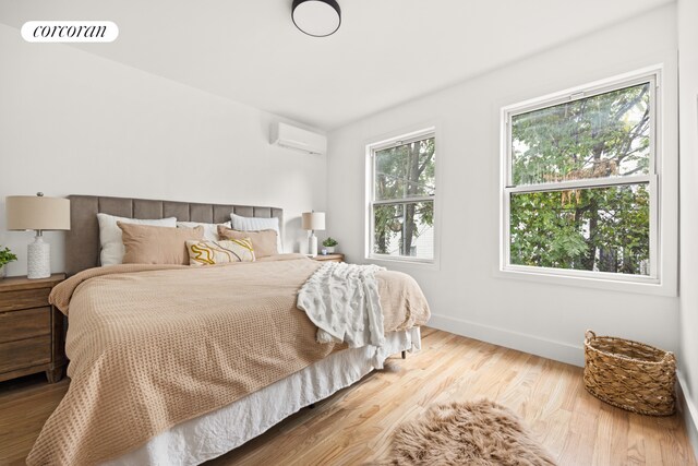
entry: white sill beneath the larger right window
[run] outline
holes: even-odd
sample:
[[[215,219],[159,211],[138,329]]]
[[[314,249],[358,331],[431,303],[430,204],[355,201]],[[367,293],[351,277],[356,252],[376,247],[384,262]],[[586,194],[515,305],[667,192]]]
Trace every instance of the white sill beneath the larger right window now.
[[[594,288],[638,295],[666,296],[672,298],[678,296],[675,286],[672,287],[665,283],[661,283],[659,279],[649,277],[647,279],[631,282],[624,279],[609,279],[602,276],[557,275],[545,273],[544,271],[537,272],[510,268],[498,268],[495,271],[494,275],[498,278],[513,278],[540,284]]]

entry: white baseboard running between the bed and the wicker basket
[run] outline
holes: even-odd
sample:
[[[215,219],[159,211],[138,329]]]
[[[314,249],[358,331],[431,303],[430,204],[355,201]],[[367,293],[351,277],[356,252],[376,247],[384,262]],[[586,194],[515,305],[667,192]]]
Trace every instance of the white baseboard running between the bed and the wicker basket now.
[[[573,366],[585,366],[585,350],[580,344],[570,345],[568,343],[556,342],[554,339],[541,338],[510,330],[500,328],[491,325],[483,325],[461,319],[454,319],[446,315],[432,314],[429,326],[455,333],[457,335],[493,343],[506,348],[518,349],[531,355],[542,356],[555,361],[567,362]]]

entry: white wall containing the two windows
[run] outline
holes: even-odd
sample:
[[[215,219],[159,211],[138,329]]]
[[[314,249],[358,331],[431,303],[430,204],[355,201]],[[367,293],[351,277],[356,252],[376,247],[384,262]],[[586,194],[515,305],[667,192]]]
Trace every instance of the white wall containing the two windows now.
[[[675,28],[672,4],[332,132],[327,232],[350,261],[363,261],[365,144],[435,122],[441,266],[389,265],[420,283],[434,314],[431,325],[576,365],[583,360],[586,328],[676,350],[675,297],[517,280],[495,273],[501,107],[663,63],[663,232],[666,250],[673,252],[664,272],[675,289]]]

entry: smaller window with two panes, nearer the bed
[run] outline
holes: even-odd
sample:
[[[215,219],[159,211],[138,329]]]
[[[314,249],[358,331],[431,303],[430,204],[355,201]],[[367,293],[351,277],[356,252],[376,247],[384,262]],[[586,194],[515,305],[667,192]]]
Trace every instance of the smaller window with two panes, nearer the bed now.
[[[434,261],[434,130],[369,145],[369,251],[373,259]]]

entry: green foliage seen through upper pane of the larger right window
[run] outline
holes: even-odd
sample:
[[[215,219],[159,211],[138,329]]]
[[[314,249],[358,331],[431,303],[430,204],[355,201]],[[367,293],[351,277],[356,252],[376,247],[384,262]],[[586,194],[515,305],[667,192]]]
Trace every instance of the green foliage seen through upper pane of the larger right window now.
[[[514,184],[647,175],[649,98],[641,84],[515,116]]]

